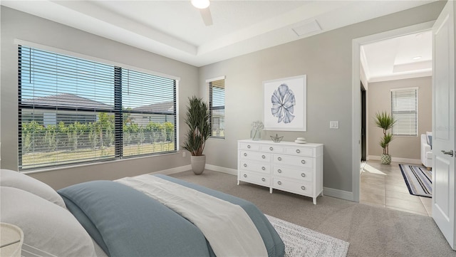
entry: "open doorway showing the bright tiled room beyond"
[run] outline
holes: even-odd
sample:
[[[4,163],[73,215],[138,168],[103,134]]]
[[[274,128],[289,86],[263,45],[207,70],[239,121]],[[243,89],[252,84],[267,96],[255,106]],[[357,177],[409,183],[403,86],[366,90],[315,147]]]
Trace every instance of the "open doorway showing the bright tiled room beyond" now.
[[[432,32],[408,33],[363,44],[361,70],[363,78],[361,79],[360,202],[431,216],[430,199],[409,194],[399,164],[420,166],[418,135],[432,130],[430,115]],[[419,90],[420,100],[417,101],[418,93],[410,96],[402,93],[410,90],[416,90],[416,92]],[[398,92],[400,96],[393,101],[393,95],[398,95]],[[412,101],[413,98],[415,101]],[[407,114],[393,112],[392,103],[395,103],[396,108],[407,104]],[[410,109],[411,103],[415,103],[415,109],[413,109],[415,112]],[[421,112],[419,118],[418,107]],[[427,110],[428,113],[423,110]],[[394,132],[396,129],[395,140],[389,147],[395,162],[389,165],[380,163],[380,155],[385,152],[378,144],[378,139],[383,137],[383,134],[373,122],[378,112],[391,113],[398,119],[398,128],[393,127],[393,130],[388,130],[388,132]],[[420,131],[418,131],[418,119]],[[368,128],[366,122],[369,121],[372,126]],[[366,142],[369,141],[371,145],[366,149]],[[364,160],[367,160],[367,163]]]

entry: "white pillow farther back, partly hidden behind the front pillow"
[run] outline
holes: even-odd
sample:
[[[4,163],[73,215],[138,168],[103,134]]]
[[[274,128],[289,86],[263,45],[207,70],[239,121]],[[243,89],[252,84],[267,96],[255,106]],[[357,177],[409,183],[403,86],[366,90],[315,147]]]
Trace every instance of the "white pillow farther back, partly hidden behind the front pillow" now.
[[[15,187],[22,189],[26,192],[36,194],[43,199],[53,202],[58,206],[66,209],[65,202],[63,201],[60,194],[56,190],[49,187],[48,184],[44,184],[38,179],[28,177],[26,174],[21,172],[15,172],[9,169],[0,169],[0,186],[1,187]]]

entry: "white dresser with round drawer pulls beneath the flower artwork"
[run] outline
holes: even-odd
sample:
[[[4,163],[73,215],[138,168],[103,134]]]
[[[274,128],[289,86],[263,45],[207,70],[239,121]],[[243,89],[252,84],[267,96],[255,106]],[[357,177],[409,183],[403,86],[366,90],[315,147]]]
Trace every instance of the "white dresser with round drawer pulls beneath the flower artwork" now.
[[[309,196],[323,195],[323,145],[239,140],[237,184],[249,182]]]

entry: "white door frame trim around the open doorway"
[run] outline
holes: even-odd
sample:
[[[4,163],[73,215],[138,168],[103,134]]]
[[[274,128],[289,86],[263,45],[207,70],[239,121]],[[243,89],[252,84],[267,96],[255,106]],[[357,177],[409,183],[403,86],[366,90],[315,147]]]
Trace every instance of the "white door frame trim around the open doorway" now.
[[[430,31],[435,21],[427,21],[425,23],[418,23],[412,26],[403,28],[397,28],[392,31],[385,31],[383,33],[377,33],[370,36],[364,36],[361,38],[353,38],[351,44],[351,156],[352,156],[352,201],[359,202],[360,199],[360,177],[359,172],[361,165],[361,90],[360,81],[360,68],[361,68],[361,46],[367,43],[373,43],[375,41],[382,41],[388,38],[395,38],[398,36],[405,36],[411,33],[417,33],[420,31]],[[368,85],[367,85],[368,86]]]

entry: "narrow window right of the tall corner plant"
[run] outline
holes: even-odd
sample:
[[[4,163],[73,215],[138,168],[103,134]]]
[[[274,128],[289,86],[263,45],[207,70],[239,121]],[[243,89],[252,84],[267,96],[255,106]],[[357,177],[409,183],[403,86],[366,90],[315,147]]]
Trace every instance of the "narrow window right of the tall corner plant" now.
[[[225,78],[207,80],[211,137],[225,137]]]

